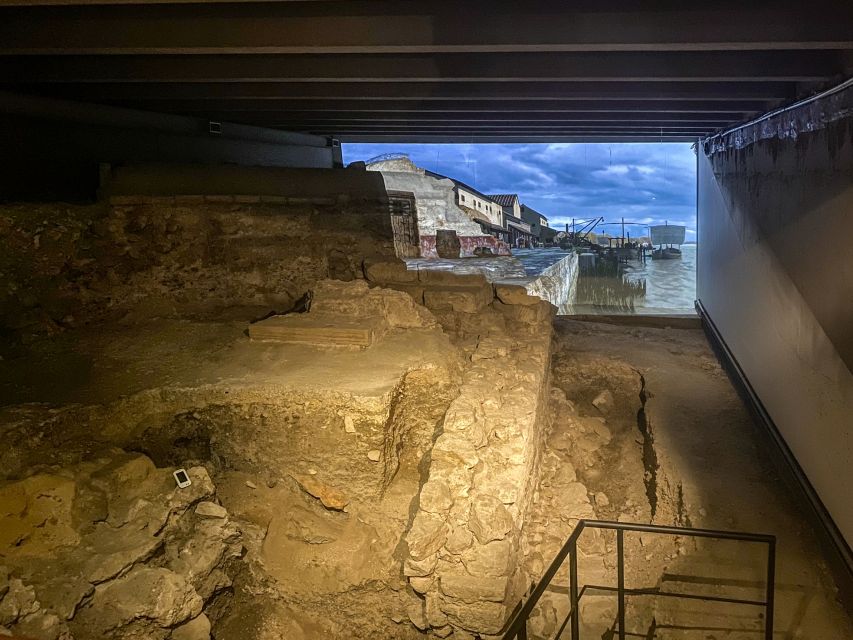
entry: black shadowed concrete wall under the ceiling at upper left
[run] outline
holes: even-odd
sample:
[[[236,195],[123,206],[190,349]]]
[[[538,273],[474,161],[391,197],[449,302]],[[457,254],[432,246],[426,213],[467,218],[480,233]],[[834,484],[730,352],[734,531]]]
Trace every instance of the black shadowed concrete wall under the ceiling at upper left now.
[[[0,201],[94,200],[99,164],[342,166],[326,138],[0,92]]]

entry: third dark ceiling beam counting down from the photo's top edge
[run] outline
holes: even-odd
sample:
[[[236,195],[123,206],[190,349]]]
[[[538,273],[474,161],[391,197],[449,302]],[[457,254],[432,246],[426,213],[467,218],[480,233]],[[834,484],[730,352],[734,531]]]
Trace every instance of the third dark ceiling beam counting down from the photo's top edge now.
[[[776,102],[793,100],[798,87],[789,82],[478,82],[476,84],[394,82],[371,86],[360,82],[306,83],[88,83],[50,85],[54,95],[89,100],[352,100],[352,101],[583,101],[620,102],[672,100],[713,102]],[[45,85],[21,84],[21,93],[39,93]]]

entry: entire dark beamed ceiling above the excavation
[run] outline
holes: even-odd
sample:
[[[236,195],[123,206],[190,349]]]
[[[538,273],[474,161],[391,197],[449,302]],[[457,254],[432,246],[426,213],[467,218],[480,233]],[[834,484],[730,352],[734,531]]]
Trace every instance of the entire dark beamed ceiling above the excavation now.
[[[693,140],[853,75],[853,2],[0,0],[0,89],[344,141]]]

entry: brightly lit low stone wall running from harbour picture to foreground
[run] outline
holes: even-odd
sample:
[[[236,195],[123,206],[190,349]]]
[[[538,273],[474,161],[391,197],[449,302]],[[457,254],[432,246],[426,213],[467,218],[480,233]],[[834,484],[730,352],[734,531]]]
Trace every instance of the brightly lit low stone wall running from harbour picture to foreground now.
[[[434,637],[498,634],[528,587],[520,540],[545,437],[554,307],[482,275],[388,263],[365,273],[423,300],[470,359],[406,536],[403,572],[418,594],[409,618]]]

